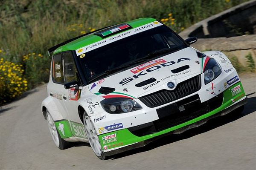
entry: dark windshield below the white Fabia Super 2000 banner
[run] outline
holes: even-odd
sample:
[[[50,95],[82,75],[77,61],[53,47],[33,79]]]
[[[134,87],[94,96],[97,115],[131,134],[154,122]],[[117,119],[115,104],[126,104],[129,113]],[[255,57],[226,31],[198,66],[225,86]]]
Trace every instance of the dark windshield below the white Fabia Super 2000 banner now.
[[[169,28],[158,26],[86,52],[79,60],[90,83],[186,47]]]

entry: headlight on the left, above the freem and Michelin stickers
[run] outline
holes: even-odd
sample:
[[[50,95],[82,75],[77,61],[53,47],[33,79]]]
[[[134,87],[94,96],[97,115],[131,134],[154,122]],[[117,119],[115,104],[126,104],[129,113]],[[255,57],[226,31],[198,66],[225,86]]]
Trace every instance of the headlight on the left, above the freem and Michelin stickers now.
[[[142,109],[140,104],[129,98],[106,98],[100,104],[106,112],[113,114]]]

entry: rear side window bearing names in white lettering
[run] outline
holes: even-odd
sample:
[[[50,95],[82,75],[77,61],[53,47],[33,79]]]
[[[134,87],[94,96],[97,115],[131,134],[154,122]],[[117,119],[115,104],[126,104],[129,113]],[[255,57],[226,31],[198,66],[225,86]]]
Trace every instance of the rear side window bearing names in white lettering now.
[[[53,56],[53,59],[52,59],[52,81],[55,83],[64,84],[61,54],[57,54],[57,55]]]

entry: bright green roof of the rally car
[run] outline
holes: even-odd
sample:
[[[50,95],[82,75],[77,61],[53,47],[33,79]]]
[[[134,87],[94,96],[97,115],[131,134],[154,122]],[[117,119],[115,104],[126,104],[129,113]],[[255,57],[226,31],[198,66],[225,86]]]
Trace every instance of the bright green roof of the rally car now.
[[[154,18],[139,18],[139,19],[136,19],[136,20],[131,20],[131,21],[125,22],[124,24],[128,24],[132,28],[136,28],[136,27],[145,25],[147,23],[151,23],[155,20],[156,19],[154,19]],[[119,24],[117,24],[117,25],[119,25]],[[115,25],[115,26],[117,26],[117,25]],[[109,26],[107,28],[104,28],[104,30],[106,30],[108,28],[112,28],[112,27],[113,26]],[[100,31],[102,31],[102,29],[99,29],[99,30],[97,30],[95,32],[92,32],[92,33],[89,33],[89,34],[86,34],[84,36],[79,36],[77,39],[74,38],[75,40],[73,40],[71,42],[68,42],[68,43],[65,43],[64,45],[59,46],[57,49],[55,49],[55,51],[53,52],[53,55],[55,55],[56,53],[59,53],[59,52],[80,49],[81,47],[84,47],[84,46],[90,45],[92,43],[96,43],[100,40],[103,40],[106,37],[102,38],[98,35],[95,35],[95,33],[100,32]],[[119,34],[119,33],[120,32],[117,32],[116,34]],[[114,34],[114,35],[116,35],[116,34]],[[111,36],[114,36],[114,35],[111,35]]]

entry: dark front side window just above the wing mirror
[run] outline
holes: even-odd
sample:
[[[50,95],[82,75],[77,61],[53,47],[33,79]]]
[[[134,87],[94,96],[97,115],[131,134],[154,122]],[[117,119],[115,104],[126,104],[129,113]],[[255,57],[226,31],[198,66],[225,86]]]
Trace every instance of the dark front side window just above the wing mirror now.
[[[77,77],[76,64],[73,59],[72,52],[64,52],[64,80],[65,83],[71,81],[79,81]]]

